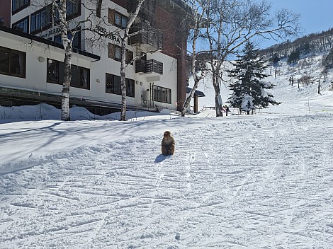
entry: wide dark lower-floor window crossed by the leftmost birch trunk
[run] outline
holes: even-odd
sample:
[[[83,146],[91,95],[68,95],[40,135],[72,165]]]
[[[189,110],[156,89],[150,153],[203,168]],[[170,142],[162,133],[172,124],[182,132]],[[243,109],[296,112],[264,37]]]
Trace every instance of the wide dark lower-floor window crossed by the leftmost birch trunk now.
[[[71,86],[90,89],[90,69],[71,65]],[[64,81],[64,63],[53,59],[47,59],[47,82],[62,85]]]

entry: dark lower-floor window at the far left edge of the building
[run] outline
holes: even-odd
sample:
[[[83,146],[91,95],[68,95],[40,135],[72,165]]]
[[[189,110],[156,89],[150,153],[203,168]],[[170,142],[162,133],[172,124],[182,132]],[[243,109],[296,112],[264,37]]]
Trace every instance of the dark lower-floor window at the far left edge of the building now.
[[[26,53],[0,47],[0,74],[26,77]]]

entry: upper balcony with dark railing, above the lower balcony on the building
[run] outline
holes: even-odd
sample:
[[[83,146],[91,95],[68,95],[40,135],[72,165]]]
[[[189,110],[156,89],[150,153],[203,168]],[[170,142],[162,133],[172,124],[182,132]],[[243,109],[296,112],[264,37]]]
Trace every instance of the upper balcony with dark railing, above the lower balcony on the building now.
[[[129,45],[137,43],[151,45],[155,49],[163,49],[163,33],[147,23],[136,23],[130,28],[130,34],[137,33],[128,39]]]

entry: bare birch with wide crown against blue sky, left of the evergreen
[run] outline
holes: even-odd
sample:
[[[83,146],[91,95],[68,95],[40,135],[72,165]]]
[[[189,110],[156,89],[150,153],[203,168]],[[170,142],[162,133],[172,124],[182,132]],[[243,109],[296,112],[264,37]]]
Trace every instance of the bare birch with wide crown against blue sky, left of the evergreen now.
[[[207,18],[208,68],[215,90],[216,116],[222,115],[218,95],[222,83],[221,66],[230,54],[237,54],[245,42],[254,37],[285,39],[300,32],[299,15],[286,9],[271,16],[271,4],[254,0],[198,0]]]

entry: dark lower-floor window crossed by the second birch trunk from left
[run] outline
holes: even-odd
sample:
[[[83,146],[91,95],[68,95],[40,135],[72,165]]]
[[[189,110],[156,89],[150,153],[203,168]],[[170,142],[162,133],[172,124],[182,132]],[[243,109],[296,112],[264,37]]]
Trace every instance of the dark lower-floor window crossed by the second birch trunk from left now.
[[[120,76],[106,74],[106,93],[121,95]],[[132,79],[126,79],[126,95],[135,97],[135,83]]]

